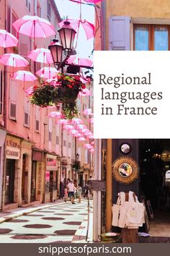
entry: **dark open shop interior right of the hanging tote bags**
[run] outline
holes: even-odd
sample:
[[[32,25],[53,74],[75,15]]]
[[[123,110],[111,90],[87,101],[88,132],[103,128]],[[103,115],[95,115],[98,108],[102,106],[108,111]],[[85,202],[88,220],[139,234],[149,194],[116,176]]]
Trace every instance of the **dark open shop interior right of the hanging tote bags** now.
[[[151,202],[150,231],[170,236],[170,140],[139,140],[140,196]]]

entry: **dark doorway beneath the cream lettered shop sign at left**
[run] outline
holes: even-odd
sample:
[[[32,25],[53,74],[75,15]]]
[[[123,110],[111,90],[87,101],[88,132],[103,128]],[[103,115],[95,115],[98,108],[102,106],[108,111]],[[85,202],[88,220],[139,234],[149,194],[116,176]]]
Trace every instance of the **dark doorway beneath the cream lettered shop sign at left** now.
[[[14,172],[15,160],[6,159],[5,204],[14,202]]]

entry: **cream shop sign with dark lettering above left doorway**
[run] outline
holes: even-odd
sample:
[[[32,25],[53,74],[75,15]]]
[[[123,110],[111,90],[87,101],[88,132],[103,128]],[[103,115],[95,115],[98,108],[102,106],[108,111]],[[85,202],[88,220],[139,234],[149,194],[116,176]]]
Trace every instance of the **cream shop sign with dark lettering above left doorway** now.
[[[20,156],[20,140],[14,137],[6,137],[6,158],[19,159]]]

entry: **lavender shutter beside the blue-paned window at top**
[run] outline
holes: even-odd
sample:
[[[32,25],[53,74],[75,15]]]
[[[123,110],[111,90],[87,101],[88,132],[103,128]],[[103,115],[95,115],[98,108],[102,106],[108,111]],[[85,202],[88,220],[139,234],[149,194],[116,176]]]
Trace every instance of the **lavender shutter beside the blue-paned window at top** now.
[[[130,50],[130,17],[109,17],[109,51]]]

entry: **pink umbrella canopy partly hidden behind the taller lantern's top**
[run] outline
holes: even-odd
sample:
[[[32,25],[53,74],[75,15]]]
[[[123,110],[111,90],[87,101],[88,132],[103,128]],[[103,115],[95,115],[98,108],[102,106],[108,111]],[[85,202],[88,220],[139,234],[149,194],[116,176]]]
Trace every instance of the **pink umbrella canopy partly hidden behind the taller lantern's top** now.
[[[94,38],[94,25],[90,22],[87,22],[86,20],[72,20],[72,19],[67,19],[63,20],[62,22],[59,23],[60,27],[63,27],[64,22],[70,22],[71,27],[79,33],[80,27],[83,27],[85,33],[86,33],[86,38],[89,40],[90,38]]]

